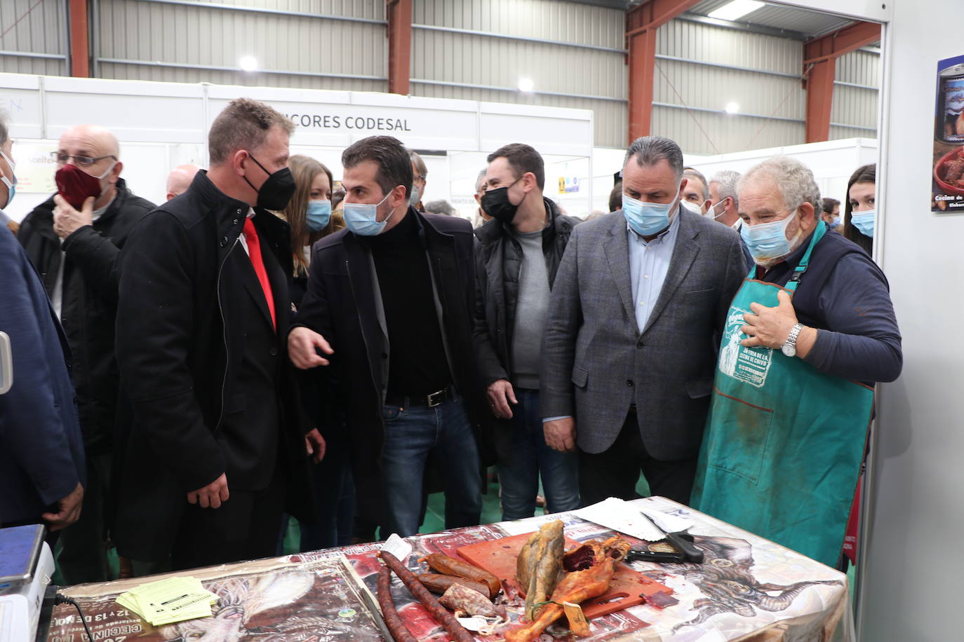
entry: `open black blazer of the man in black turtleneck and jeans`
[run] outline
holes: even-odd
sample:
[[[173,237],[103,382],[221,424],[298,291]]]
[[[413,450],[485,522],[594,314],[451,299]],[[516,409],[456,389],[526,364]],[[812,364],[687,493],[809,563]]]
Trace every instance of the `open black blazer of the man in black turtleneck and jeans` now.
[[[451,355],[455,386],[466,399],[469,417],[478,428],[484,407],[472,354],[474,292],[473,237],[468,220],[419,214],[418,223],[442,303],[442,331]],[[328,374],[337,380],[337,402],[344,412],[352,444],[359,509],[378,520],[381,496],[378,470],[385,437],[382,403],[388,386],[388,339],[375,303],[375,272],[367,244],[348,230],[321,239],[311,248],[308,292],[298,310],[298,325],[320,333],[335,349]],[[332,395],[329,389],[318,394]],[[334,395],[332,395],[334,397]],[[371,500],[371,501],[369,501]],[[377,523],[377,522],[376,522]]]

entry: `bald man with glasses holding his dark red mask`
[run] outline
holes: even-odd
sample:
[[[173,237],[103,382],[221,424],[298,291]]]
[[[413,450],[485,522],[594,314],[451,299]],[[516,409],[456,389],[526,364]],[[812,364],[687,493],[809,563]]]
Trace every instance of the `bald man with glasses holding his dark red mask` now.
[[[73,584],[107,579],[105,525],[118,410],[118,257],[154,204],[126,188],[118,141],[102,127],[67,129],[54,156],[59,192],[23,219],[17,239],[40,272],[73,354],[87,485],[84,511],[65,529],[57,559]]]

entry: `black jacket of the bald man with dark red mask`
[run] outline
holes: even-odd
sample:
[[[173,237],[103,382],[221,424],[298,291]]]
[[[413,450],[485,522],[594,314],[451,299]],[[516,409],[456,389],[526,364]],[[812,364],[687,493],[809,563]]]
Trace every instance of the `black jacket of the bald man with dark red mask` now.
[[[88,456],[111,451],[117,423],[118,367],[114,357],[114,318],[118,303],[118,257],[137,222],[154,204],[135,196],[118,179],[117,196],[93,225],[64,240],[53,229],[53,196],[20,224],[17,240],[53,296],[66,254],[61,322],[73,353],[71,378]]]

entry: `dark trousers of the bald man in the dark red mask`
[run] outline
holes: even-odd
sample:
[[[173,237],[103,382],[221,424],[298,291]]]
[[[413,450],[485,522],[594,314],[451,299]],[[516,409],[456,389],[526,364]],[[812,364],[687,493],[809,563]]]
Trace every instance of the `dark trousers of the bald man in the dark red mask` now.
[[[87,485],[80,519],[61,532],[57,568],[66,584],[106,581],[106,511],[111,486],[111,455],[87,457]]]

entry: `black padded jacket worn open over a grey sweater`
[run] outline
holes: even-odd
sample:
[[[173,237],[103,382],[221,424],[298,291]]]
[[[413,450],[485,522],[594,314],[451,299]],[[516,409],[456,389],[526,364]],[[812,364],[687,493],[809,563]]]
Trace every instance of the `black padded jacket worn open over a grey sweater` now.
[[[566,251],[578,218],[566,217],[549,198],[544,198],[549,225],[543,230],[543,253],[549,287]],[[480,383],[511,379],[509,357],[516,324],[522,245],[508,228],[493,218],[475,230],[475,330],[473,346]]]

